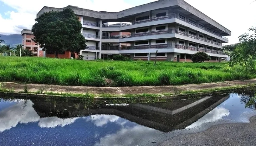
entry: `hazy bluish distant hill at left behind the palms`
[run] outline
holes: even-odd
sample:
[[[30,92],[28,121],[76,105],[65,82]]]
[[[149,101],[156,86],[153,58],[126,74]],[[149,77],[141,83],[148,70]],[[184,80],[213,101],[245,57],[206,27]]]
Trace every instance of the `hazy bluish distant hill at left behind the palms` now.
[[[15,47],[17,44],[22,43],[22,36],[20,34],[11,34],[11,35],[3,35],[0,34],[0,39],[4,40],[7,45],[11,45],[11,47]]]

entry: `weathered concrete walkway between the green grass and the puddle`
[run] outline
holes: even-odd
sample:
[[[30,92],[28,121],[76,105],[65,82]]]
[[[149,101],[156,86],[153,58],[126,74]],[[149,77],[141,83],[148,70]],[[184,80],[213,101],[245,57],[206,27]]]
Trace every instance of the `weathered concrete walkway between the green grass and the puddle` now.
[[[219,83],[189,84],[180,86],[140,86],[140,87],[87,87],[87,86],[60,86],[60,85],[42,85],[42,84],[20,84],[12,82],[1,83],[6,89],[14,89],[14,92],[23,92],[25,86],[29,92],[57,92],[57,93],[91,93],[91,94],[141,94],[141,93],[175,93],[177,91],[215,89],[220,87],[232,87],[236,85],[256,84],[256,79],[244,81],[227,81]]]

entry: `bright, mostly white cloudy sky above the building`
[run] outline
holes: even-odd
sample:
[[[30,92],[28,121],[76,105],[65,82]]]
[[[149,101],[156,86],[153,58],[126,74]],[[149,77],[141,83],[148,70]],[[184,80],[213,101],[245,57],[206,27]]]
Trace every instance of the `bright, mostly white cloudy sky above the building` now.
[[[15,34],[22,29],[31,29],[37,12],[43,6],[65,7],[78,6],[95,11],[118,12],[137,5],[156,0],[0,0],[0,34]],[[185,0],[199,11],[214,19],[232,32],[229,43],[237,43],[238,36],[256,26],[254,19],[254,0]],[[252,3],[253,2],[253,3]]]

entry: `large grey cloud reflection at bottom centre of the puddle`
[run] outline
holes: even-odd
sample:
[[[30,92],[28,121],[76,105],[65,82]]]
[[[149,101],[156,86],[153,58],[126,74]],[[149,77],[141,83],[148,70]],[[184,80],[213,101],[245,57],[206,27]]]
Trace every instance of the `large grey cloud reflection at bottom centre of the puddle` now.
[[[123,127],[114,134],[108,134],[102,137],[96,146],[130,146],[142,145],[144,140],[153,140],[155,136],[163,132],[144,126]],[[147,141],[145,141],[147,142]]]

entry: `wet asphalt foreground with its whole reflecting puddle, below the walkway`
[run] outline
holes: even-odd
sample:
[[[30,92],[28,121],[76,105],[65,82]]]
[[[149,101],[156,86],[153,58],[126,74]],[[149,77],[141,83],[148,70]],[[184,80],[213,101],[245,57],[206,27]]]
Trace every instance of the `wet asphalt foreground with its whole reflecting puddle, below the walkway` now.
[[[254,93],[121,105],[2,97],[0,145],[248,145],[256,141],[256,118],[249,123],[256,115]],[[249,139],[231,141],[241,134]]]

